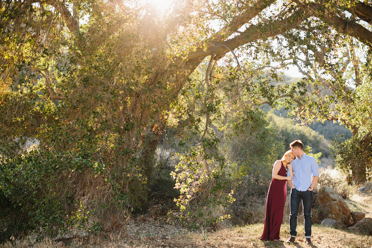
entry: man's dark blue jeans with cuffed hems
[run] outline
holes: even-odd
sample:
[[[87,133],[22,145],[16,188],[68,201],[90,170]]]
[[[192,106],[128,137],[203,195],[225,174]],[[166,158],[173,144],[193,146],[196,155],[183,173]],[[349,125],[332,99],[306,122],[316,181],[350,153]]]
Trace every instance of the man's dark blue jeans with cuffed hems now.
[[[289,227],[291,237],[297,235],[297,215],[300,202],[302,201],[304,219],[305,219],[305,238],[311,238],[311,206],[312,206],[312,191],[298,191],[296,188],[291,190],[291,214],[289,215]]]

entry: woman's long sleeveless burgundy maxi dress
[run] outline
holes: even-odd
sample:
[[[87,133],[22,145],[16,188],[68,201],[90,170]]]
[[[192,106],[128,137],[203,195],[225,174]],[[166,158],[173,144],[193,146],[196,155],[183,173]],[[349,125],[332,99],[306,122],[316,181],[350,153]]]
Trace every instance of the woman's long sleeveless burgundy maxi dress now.
[[[282,166],[278,175],[286,177],[287,169]],[[283,222],[285,200],[287,198],[287,180],[273,178],[267,193],[265,224],[261,240],[279,239],[280,226]]]

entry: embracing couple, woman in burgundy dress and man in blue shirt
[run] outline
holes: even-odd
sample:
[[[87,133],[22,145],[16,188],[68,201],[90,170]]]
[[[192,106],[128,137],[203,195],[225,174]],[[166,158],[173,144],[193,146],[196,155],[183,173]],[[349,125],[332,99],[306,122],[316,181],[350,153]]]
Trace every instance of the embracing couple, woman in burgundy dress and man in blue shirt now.
[[[311,243],[311,207],[312,189],[319,179],[317,160],[306,155],[301,140],[291,143],[291,150],[284,153],[281,160],[274,163],[273,179],[266,200],[266,216],[261,240],[282,241],[279,237],[280,226],[283,222],[283,211],[287,197],[286,182],[291,187],[289,216],[290,237],[288,243],[294,243],[297,235],[297,215],[302,201],[305,219],[306,244]],[[297,158],[298,157],[298,158]],[[312,176],[314,177],[312,179]]]

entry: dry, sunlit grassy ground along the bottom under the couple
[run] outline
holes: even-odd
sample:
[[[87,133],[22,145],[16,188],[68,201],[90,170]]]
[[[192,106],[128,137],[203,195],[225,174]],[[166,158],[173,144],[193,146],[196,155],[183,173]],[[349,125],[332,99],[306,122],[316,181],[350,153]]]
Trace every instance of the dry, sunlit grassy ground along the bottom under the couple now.
[[[67,243],[69,248],[209,248],[209,247],[309,247],[305,244],[304,228],[298,226],[298,238],[295,244],[285,242],[260,241],[263,230],[262,224],[248,225],[217,232],[188,232],[182,231],[172,236],[156,235],[111,235],[106,237],[90,237],[76,239]],[[280,236],[283,240],[289,237],[289,226],[282,225]],[[356,235],[332,228],[324,228],[318,225],[312,227],[312,247],[317,248],[371,248],[372,236]],[[18,242],[0,245],[0,248],[55,248],[51,241],[45,240],[39,243]]]

